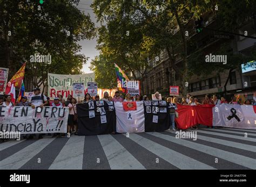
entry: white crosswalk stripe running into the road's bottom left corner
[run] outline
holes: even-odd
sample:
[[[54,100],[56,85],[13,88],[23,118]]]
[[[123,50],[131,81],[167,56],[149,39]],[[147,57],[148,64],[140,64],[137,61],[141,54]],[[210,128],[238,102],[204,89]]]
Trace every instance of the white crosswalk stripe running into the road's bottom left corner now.
[[[0,162],[0,169],[19,169],[32,157],[41,152],[54,138],[44,138],[37,140],[31,145],[19,150],[14,155],[7,157]]]

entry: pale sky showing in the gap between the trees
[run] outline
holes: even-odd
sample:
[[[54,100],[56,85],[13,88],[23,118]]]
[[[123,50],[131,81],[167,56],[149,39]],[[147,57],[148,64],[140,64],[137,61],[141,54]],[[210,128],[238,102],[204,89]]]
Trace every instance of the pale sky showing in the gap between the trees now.
[[[96,21],[96,15],[93,13],[92,8],[90,7],[90,4],[92,4],[93,0],[80,0],[77,8],[81,11],[84,11],[84,13],[87,15],[89,13],[91,20],[93,23],[98,26]],[[80,53],[84,54],[86,57],[90,57],[87,60],[87,63],[84,64],[82,71],[84,73],[91,73],[92,71],[89,69],[91,61],[94,59],[95,56],[99,55],[99,51],[95,48],[97,45],[97,38],[93,38],[91,40],[80,40],[78,42],[79,45],[82,46],[82,50]]]

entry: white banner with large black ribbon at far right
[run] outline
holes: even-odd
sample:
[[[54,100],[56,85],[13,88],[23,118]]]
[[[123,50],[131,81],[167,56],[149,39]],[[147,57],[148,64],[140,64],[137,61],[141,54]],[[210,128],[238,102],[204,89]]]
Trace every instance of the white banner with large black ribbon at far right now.
[[[256,129],[256,106],[215,105],[212,113],[213,126]]]

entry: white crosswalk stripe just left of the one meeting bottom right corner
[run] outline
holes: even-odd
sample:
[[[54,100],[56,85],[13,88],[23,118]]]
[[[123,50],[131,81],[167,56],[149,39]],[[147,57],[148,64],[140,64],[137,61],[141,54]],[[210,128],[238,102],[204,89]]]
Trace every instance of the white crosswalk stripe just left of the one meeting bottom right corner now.
[[[197,166],[197,169],[215,169],[137,134],[130,133],[130,139],[180,169],[195,169],[194,166]],[[181,160],[182,162],[180,162]]]

